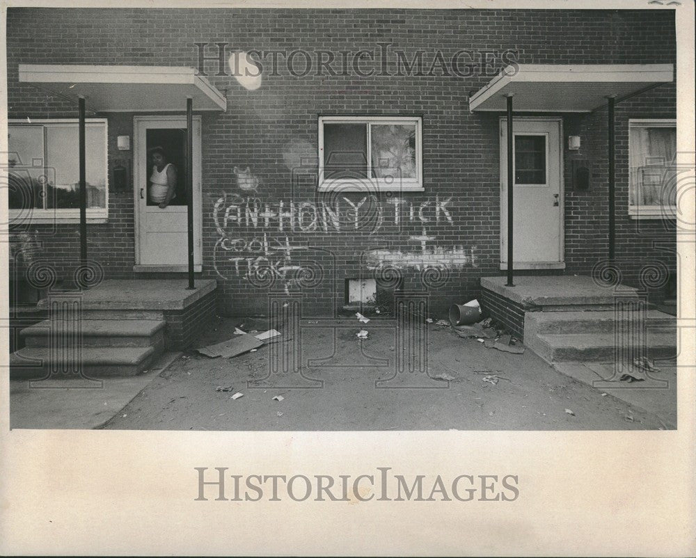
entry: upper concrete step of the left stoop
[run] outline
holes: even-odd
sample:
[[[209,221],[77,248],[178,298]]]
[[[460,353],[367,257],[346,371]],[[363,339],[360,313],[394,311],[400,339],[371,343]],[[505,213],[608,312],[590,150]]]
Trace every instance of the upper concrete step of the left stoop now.
[[[84,347],[157,346],[164,344],[164,320],[81,320]],[[26,346],[49,346],[51,334],[58,340],[74,335],[75,324],[44,320],[24,328],[19,336]]]

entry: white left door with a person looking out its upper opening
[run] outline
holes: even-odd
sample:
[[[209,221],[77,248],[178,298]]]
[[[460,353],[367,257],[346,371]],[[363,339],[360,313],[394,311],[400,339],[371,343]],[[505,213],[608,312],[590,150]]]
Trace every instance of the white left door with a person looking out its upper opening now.
[[[136,208],[136,271],[188,269],[186,118],[134,118],[134,182]],[[177,171],[177,189],[167,207],[150,200],[150,150],[163,148]],[[200,117],[193,118],[193,263],[201,269],[200,249]]]

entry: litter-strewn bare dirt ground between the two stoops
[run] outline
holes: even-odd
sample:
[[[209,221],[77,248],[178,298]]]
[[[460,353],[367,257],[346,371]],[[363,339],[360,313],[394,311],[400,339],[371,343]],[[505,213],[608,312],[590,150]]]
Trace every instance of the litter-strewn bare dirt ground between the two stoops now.
[[[239,319],[217,319],[200,338],[198,346],[230,339],[235,324],[239,324]],[[245,325],[261,331],[266,324],[247,320]],[[269,345],[228,359],[208,358],[188,351],[106,422],[104,428],[230,431],[667,428],[660,417],[560,374],[529,350],[522,355],[504,353],[487,349],[476,340],[461,339],[450,328],[436,324],[428,327],[427,375],[395,375],[393,322],[379,320],[359,324],[356,319],[345,319],[302,328],[301,374],[269,375]],[[356,333],[363,328],[369,336],[358,340]],[[453,379],[428,377],[438,374]],[[497,383],[494,383],[496,378],[489,377],[493,375],[497,376]],[[377,387],[376,381],[380,379],[387,381]],[[235,392],[244,396],[232,399],[230,396]],[[278,394],[282,395],[282,401],[274,401]]]

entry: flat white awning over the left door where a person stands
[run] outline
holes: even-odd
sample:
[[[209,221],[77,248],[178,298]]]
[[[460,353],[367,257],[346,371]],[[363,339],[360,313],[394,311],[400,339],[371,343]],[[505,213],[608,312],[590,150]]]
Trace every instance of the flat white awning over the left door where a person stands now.
[[[225,111],[227,100],[192,67],[20,64],[19,81],[95,112]]]

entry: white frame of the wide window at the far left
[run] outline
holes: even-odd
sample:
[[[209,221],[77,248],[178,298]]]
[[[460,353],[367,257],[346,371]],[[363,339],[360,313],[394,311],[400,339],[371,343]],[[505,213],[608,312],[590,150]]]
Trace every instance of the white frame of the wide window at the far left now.
[[[75,127],[79,126],[78,118],[37,118],[32,119],[30,122],[27,120],[22,120],[21,118],[10,118],[8,119],[8,134],[10,127],[19,125],[20,127],[26,126],[36,126],[41,125],[44,127],[44,137],[46,127],[51,125],[65,126],[66,124],[73,124]],[[90,124],[100,124],[104,125],[104,207],[87,208],[87,222],[88,223],[106,223],[109,220],[109,120],[106,118],[86,118],[85,125],[88,127]],[[47,145],[44,140],[44,159],[43,165],[46,168],[47,164]],[[77,152],[76,152],[77,157]],[[25,163],[26,164],[26,163]],[[29,216],[27,216],[29,214]],[[14,218],[26,219],[32,225],[41,224],[74,224],[80,221],[80,210],[79,208],[60,208],[54,207],[49,209],[8,209],[8,217],[10,218],[10,225]]]

